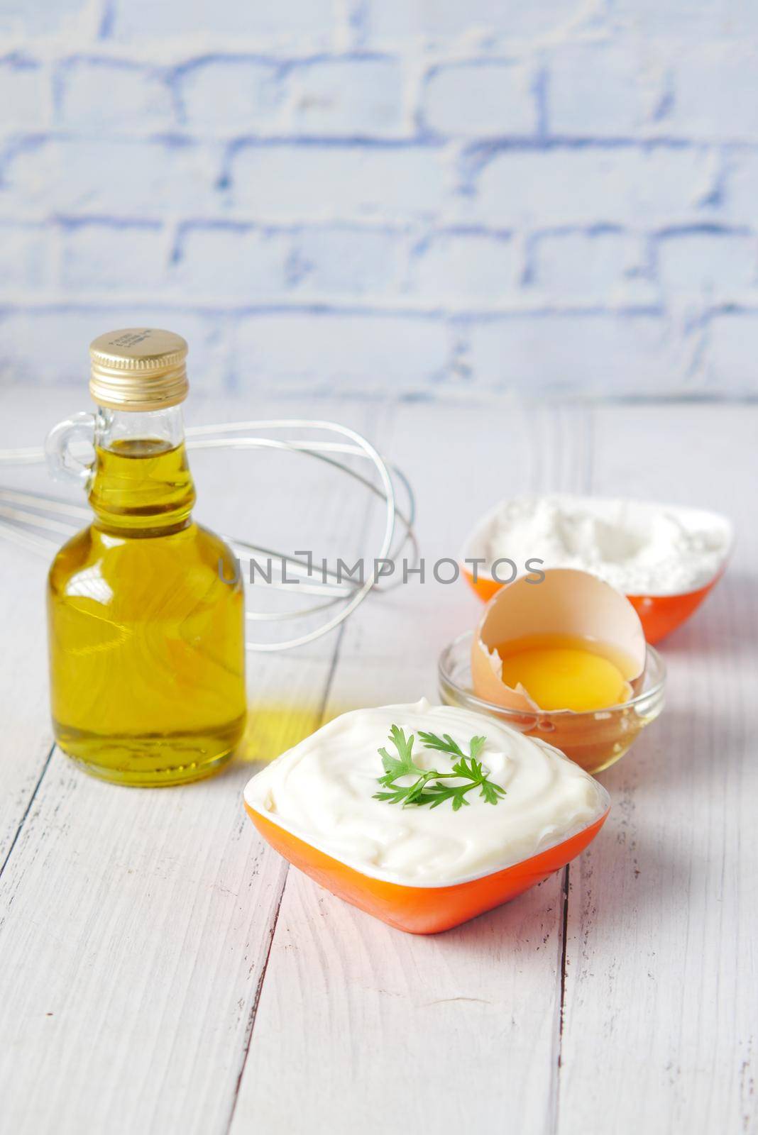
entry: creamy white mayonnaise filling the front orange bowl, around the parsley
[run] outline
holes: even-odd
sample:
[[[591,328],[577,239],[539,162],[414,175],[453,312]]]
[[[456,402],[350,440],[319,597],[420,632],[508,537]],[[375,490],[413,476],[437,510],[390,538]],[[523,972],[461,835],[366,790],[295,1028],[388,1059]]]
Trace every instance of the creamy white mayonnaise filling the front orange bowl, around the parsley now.
[[[374,800],[384,773],[378,749],[396,756],[390,725],[414,734],[416,765],[439,772],[449,772],[455,758],[424,748],[419,730],[449,733],[465,754],[472,737],[486,737],[479,759],[506,794],[491,805],[474,789],[458,812],[449,801],[404,808]],[[458,883],[528,859],[587,827],[608,805],[605,789],[551,746],[426,699],[343,714],[253,776],[245,800],[363,874],[414,886]]]

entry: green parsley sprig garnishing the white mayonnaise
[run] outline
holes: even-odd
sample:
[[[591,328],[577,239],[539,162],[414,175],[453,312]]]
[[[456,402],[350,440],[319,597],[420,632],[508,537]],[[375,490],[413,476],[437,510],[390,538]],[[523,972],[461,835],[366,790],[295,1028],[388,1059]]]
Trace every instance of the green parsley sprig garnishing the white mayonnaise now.
[[[472,737],[468,755],[456,745],[449,733],[443,733],[441,737],[438,737],[436,733],[419,730],[419,738],[426,749],[447,753],[456,758],[450,772],[440,773],[436,768],[420,768],[413,759],[415,738],[413,734],[406,738],[402,729],[393,725],[389,730],[389,740],[397,749],[397,756],[388,753],[386,748],[379,749],[385,775],[379,776],[378,780],[387,791],[376,792],[374,800],[399,804],[404,808],[410,805],[420,807],[426,804],[436,808],[449,800],[453,805],[453,812],[458,812],[464,805],[468,806],[471,802],[466,799],[466,794],[477,788],[480,797],[487,804],[497,804],[505,796],[505,789],[496,784],[495,781],[488,780],[485,766],[478,759],[487,743],[486,737]],[[403,788],[396,783],[402,776],[413,776],[414,781],[407,788]],[[468,783],[443,783],[446,780],[462,780],[468,781]]]

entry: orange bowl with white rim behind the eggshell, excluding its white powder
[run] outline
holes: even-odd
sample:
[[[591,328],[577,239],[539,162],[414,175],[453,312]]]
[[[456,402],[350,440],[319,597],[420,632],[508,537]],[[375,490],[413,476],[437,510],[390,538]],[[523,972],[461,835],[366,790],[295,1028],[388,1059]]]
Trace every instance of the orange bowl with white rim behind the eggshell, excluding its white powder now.
[[[460,557],[461,574],[466,580],[471,589],[483,603],[489,603],[494,595],[505,586],[505,582],[499,582],[491,575],[491,566],[489,563],[481,565],[474,578],[471,568],[465,563],[466,558],[472,558],[472,553],[478,550],[478,543],[480,541],[483,531],[487,526],[492,522],[492,519],[497,514],[497,511],[503,506],[502,502],[491,512],[479,522],[475,529],[469,536],[463,553]],[[726,516],[721,513],[705,512],[702,510],[696,508],[676,508],[676,512],[683,515],[692,516],[709,516],[713,521],[722,524],[727,532],[726,550],[724,553],[724,558],[722,564],[714,575],[714,578],[700,588],[693,591],[681,591],[675,595],[628,595],[626,598],[632,604],[638,615],[640,616],[640,622],[642,623],[642,630],[645,631],[645,638],[648,642],[658,642],[666,634],[671,634],[675,631],[677,627],[692,615],[700,604],[704,602],[706,596],[713,591],[714,587],[718,580],[724,574],[726,570],[726,564],[732,550],[732,545],[734,543],[734,533],[732,530],[732,524]],[[551,564],[545,564],[544,566],[557,566]]]

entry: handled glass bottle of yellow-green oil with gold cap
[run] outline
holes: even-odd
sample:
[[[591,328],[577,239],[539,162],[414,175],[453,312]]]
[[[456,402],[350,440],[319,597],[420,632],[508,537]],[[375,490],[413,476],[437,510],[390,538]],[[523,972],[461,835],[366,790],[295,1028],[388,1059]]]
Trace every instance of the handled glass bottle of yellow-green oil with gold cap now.
[[[82,480],[94,512],[48,580],[54,734],[87,772],[121,784],[210,775],[245,722],[241,573],[192,519],[186,354],[169,331],[100,336],[94,419],[76,415],[48,439],[53,471]],[[83,435],[94,440],[91,466],[71,449]]]

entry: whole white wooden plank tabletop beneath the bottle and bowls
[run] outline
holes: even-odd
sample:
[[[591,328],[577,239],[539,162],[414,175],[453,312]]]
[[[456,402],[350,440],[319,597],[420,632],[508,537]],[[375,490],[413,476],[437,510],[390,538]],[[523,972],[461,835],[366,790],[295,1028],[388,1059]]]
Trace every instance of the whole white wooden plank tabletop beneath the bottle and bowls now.
[[[0,445],[36,444],[86,403],[0,397]],[[591,849],[499,910],[413,938],[288,871],[242,789],[327,714],[433,697],[440,647],[478,612],[462,582],[409,585],[305,650],[252,656],[241,756],[144,791],[52,746],[45,565],[0,545],[0,1129],[756,1130],[758,406],[195,397],[189,418],[272,413],[367,431],[414,484],[429,560],[528,489],[719,508],[736,553],[664,644],[667,707],[603,775],[614,806]],[[378,508],[326,469],[260,454],[193,469],[218,527],[328,555],[378,543]]]

